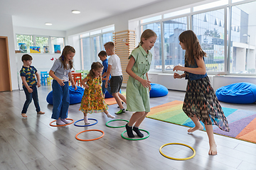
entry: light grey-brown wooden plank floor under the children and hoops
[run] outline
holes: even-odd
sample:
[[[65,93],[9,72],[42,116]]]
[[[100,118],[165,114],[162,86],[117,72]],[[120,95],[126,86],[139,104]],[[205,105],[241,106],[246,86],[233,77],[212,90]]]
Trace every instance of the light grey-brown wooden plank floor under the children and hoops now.
[[[125,91],[125,89],[123,89]],[[96,118],[97,125],[87,128],[69,125],[55,128],[49,125],[53,106],[48,105],[46,96],[50,86],[38,89],[41,111],[37,115],[33,103],[28,108],[28,118],[21,118],[25,101],[23,91],[0,93],[0,169],[256,169],[256,145],[215,135],[218,155],[208,155],[206,132],[197,131],[188,135],[188,128],[146,118],[141,127],[150,132],[146,140],[124,140],[124,128],[107,128],[112,120],[104,113],[89,115]],[[183,101],[185,93],[169,91],[168,96],[151,98],[151,107],[170,101]],[[221,103],[223,107],[254,110],[255,104],[235,105]],[[68,117],[82,119],[78,111],[80,104],[70,105]],[[118,111],[117,105],[109,106],[110,113]],[[117,115],[117,119],[129,120],[132,113]],[[116,121],[110,125],[124,125]],[[103,130],[100,140],[82,142],[75,135],[83,130]],[[80,138],[100,137],[100,132],[86,132]],[[145,134],[146,135],[146,134]],[[159,153],[159,147],[170,142],[180,142],[196,149],[196,156],[186,161],[167,159]],[[170,157],[189,157],[192,152],[186,147],[174,145],[164,147]]]

